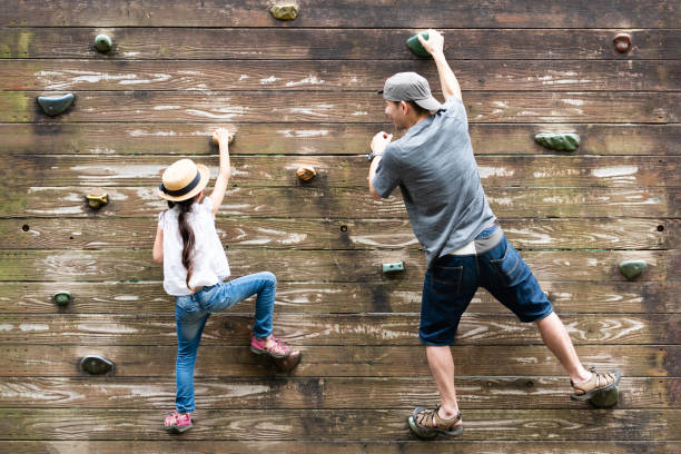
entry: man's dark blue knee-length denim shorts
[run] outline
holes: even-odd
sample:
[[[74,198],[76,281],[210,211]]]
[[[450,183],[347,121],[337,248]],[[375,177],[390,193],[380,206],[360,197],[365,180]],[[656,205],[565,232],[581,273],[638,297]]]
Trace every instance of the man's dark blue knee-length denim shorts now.
[[[484,240],[495,228],[484,230],[478,239]],[[423,283],[420,340],[434,346],[452,344],[461,316],[478,287],[524,323],[553,312],[530,267],[502,234],[499,244],[482,254],[445,255],[433,261]]]

